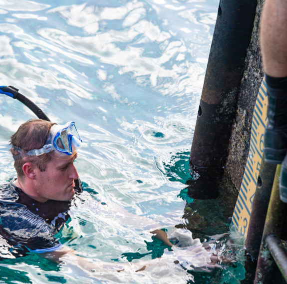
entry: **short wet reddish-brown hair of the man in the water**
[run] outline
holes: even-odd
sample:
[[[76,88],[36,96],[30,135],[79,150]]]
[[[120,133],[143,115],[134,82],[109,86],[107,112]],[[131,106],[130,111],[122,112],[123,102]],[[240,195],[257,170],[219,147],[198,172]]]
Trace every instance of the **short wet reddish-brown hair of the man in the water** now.
[[[54,124],[56,123],[37,118],[24,122],[10,137],[10,152],[15,156],[19,154],[13,145],[26,151],[41,148],[45,144],[50,128]],[[40,171],[45,171],[47,163],[51,159],[52,156],[48,153],[38,156],[24,156],[23,158],[16,159],[14,167],[17,172],[17,177],[21,178],[24,176],[22,167],[25,162],[32,162]]]

